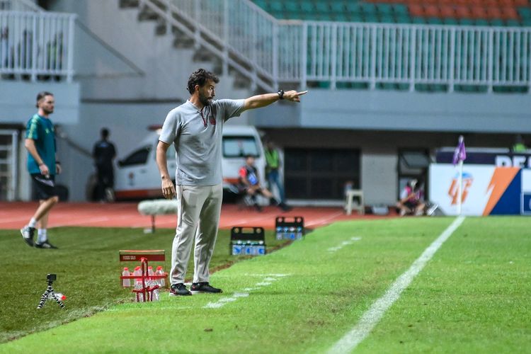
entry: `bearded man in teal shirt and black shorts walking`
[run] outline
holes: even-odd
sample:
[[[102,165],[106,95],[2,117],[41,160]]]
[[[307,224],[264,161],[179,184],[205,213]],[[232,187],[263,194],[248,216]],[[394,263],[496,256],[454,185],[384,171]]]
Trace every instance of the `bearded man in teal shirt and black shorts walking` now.
[[[39,207],[30,222],[21,229],[22,238],[28,246],[38,249],[57,249],[47,238],[50,210],[59,202],[55,175],[61,173],[61,165],[55,159],[55,130],[50,114],[55,99],[52,93],[42,91],[37,95],[38,113],[28,121],[25,131],[25,148],[28,149],[28,172],[39,199]],[[33,241],[38,227],[37,241]]]

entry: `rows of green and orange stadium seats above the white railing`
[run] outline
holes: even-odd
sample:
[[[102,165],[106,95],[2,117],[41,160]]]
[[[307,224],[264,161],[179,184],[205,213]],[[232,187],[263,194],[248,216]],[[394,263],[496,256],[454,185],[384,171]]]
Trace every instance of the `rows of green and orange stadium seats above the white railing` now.
[[[528,0],[255,0],[278,19],[447,25],[531,25]]]

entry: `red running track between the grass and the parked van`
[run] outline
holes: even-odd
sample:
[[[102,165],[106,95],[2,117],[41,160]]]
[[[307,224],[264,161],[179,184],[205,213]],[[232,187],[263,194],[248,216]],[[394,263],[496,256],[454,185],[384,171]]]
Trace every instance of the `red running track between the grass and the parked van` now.
[[[20,229],[28,223],[38,207],[37,202],[0,202],[0,229]],[[257,212],[249,207],[240,209],[237,205],[224,204],[222,207],[221,229],[234,226],[253,226],[274,229],[275,217],[304,217],[304,226],[322,227],[339,220],[382,219],[389,216],[345,215],[341,207],[294,207],[290,212],[281,212],[276,207],[265,207]],[[137,202],[90,203],[60,202],[50,212],[49,227],[142,227],[151,226],[151,217],[140,215]],[[173,229],[176,215],[156,217],[156,227]]]

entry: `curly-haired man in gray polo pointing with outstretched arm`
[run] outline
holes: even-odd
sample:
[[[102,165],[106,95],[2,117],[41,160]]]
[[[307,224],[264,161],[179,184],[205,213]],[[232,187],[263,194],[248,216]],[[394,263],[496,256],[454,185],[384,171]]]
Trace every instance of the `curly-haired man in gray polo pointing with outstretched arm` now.
[[[219,79],[198,69],[188,79],[188,101],[171,110],[164,120],[156,163],[161,173],[164,198],[178,200],[176,235],[171,250],[170,295],[222,292],[209,284],[208,266],[214,252],[222,206],[222,129],[224,122],[245,110],[279,100],[300,102],[307,91],[278,91],[241,100],[213,100]],[[176,149],[176,186],[166,161],[170,144]],[[191,292],[184,278],[193,240],[194,275]]]

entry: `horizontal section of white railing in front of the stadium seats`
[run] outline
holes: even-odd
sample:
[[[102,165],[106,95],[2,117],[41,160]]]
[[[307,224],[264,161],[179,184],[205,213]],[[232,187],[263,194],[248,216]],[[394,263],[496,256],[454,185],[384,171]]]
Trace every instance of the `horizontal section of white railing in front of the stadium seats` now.
[[[279,81],[530,86],[531,28],[303,22]],[[282,29],[280,29],[282,31]],[[285,36],[283,36],[285,38]],[[285,62],[285,64],[282,64]],[[301,63],[290,66],[290,63]],[[282,69],[287,68],[287,69]]]

